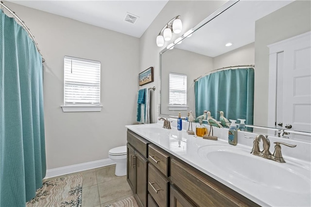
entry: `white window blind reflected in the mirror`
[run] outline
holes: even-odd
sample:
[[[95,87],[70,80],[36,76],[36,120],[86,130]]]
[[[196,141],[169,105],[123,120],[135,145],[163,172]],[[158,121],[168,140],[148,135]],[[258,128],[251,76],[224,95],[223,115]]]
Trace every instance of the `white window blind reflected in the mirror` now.
[[[187,105],[187,75],[170,73],[169,104]]]

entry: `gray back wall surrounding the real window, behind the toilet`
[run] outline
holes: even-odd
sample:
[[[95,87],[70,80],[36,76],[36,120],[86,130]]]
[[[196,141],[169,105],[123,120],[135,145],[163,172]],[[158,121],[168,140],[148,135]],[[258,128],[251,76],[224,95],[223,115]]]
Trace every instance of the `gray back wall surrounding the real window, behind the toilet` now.
[[[108,158],[126,144],[124,125],[136,120],[139,39],[70,18],[5,4],[23,19],[44,63],[47,169]],[[101,112],[62,112],[64,55],[101,61]]]

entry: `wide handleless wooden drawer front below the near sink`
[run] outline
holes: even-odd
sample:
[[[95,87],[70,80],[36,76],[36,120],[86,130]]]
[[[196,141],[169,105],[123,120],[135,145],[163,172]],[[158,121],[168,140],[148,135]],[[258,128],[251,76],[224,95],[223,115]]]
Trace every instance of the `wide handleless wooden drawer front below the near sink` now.
[[[197,206],[258,206],[236,191],[203,174],[176,159],[171,159],[172,183]]]

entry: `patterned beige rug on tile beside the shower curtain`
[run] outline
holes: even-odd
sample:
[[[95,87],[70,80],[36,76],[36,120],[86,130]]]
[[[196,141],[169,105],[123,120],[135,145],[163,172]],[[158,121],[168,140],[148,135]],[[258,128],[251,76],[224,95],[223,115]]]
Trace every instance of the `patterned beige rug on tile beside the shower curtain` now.
[[[27,207],[81,207],[82,175],[56,178],[43,183]]]

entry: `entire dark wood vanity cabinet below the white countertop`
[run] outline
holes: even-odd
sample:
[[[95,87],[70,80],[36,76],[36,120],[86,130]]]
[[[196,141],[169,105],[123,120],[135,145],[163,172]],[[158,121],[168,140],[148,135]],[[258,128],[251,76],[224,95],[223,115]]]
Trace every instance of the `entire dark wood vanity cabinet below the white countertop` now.
[[[128,130],[127,180],[139,206],[259,206]]]

